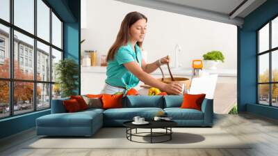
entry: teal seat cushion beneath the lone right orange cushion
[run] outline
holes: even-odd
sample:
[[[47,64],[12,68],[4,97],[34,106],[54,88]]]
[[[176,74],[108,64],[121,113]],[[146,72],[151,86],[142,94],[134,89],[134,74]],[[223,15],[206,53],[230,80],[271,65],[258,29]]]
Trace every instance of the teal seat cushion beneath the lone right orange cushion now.
[[[164,109],[168,117],[174,120],[203,120],[204,114],[197,109],[166,108]]]

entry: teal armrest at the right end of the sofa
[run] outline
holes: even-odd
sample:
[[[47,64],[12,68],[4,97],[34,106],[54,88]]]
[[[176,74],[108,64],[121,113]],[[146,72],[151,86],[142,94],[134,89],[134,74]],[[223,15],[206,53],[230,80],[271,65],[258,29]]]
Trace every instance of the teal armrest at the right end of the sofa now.
[[[202,112],[204,113],[204,125],[213,125],[213,99],[204,99],[202,103]]]

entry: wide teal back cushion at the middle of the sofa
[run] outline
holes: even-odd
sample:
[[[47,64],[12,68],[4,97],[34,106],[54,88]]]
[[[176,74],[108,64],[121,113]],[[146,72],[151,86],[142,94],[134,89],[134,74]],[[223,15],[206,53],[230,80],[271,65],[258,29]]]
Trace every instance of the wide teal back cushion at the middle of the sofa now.
[[[138,108],[138,107],[156,107],[163,108],[163,96],[161,95],[127,95],[126,104],[123,107]]]

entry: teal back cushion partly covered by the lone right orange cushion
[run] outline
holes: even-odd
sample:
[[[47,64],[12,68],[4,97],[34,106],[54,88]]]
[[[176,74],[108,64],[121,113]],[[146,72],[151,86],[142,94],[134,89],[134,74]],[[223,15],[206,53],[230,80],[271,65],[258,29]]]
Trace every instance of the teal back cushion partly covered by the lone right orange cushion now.
[[[164,96],[164,108],[181,107],[183,95],[167,95]]]

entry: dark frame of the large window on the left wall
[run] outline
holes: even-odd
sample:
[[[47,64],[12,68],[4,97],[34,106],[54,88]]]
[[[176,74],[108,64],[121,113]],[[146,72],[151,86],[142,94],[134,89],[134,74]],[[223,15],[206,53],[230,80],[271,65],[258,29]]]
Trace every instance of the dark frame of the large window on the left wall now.
[[[8,81],[9,83],[9,109],[10,109],[10,112],[9,112],[9,116],[3,116],[3,117],[0,117],[0,120],[3,119],[3,118],[11,118],[13,116],[20,116],[20,115],[23,115],[23,114],[30,114],[34,111],[42,111],[42,110],[45,110],[45,109],[51,109],[51,100],[52,100],[52,88],[53,88],[53,84],[55,84],[55,81],[52,81],[52,75],[49,75],[49,80],[45,80],[45,81],[39,81],[37,80],[37,53],[38,53],[38,48],[37,48],[37,42],[41,42],[42,44],[44,45],[47,45],[49,46],[49,65],[50,65],[50,71],[49,73],[52,72],[52,68],[54,68],[52,66],[52,48],[58,50],[59,52],[61,52],[62,54],[62,58],[61,60],[64,59],[64,49],[63,49],[63,36],[64,36],[64,31],[63,31],[63,25],[64,25],[64,21],[61,19],[61,17],[58,15],[58,13],[56,13],[56,11],[51,8],[51,6],[49,5],[49,3],[47,3],[47,1],[45,0],[41,0],[47,7],[49,7],[49,41],[47,40],[44,40],[40,37],[38,37],[38,27],[37,27],[37,22],[38,22],[38,10],[37,10],[37,1],[38,0],[33,0],[34,2],[34,33],[29,33],[28,31],[25,31],[24,29],[21,29],[19,26],[16,26],[14,24],[14,0],[10,0],[9,1],[9,7],[10,7],[10,21],[6,21],[6,20],[3,20],[0,18],[0,24],[2,24],[3,26],[7,26],[8,29],[9,29],[9,38],[8,38],[8,52],[9,52],[9,55],[10,55],[10,77],[9,78],[1,78],[0,77],[0,81]],[[56,15],[56,17],[58,17],[58,20],[60,20],[61,22],[61,48],[59,47],[56,47],[56,45],[53,45],[52,44],[52,13],[54,13],[54,15]],[[28,36],[30,38],[33,38],[34,40],[34,43],[33,43],[33,59],[31,59],[31,63],[33,64],[32,67],[33,67],[33,79],[32,80],[27,80],[27,79],[15,79],[14,77],[14,45],[15,45],[15,39],[14,39],[14,31],[17,31],[19,33],[22,33],[23,35],[25,36]],[[19,45],[21,46],[21,45]],[[24,59],[25,58],[28,58],[29,59],[29,55],[28,55],[28,52],[29,50],[27,51],[27,56],[25,56],[25,48],[23,49],[23,55],[21,55],[21,52],[19,51],[18,52],[18,56],[22,56]],[[25,62],[24,62],[25,64]],[[29,67],[26,66],[26,67]],[[29,67],[30,68],[30,67]],[[33,109],[31,109],[30,111],[26,112],[26,113],[22,113],[22,114],[15,114],[14,112],[14,83],[15,82],[31,82],[33,83]],[[38,87],[38,84],[49,84],[49,107],[47,108],[43,108],[43,109],[39,109],[37,108],[38,107],[38,102],[37,102],[37,87]]]

